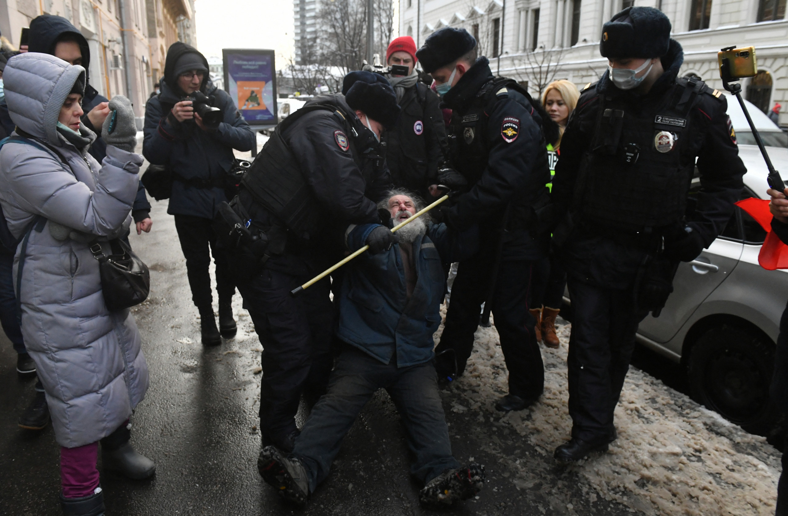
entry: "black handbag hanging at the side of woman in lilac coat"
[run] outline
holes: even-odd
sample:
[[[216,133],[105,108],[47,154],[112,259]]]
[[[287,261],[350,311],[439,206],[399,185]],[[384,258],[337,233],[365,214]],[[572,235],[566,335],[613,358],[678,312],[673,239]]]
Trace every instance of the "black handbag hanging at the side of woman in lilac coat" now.
[[[104,303],[110,312],[139,305],[147,299],[151,272],[125,241],[120,238],[94,241],[91,252],[99,260]]]

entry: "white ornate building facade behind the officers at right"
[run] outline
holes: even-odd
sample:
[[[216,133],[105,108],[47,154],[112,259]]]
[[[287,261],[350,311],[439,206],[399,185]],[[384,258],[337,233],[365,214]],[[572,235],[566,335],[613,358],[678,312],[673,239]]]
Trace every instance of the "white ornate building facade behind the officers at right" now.
[[[717,52],[756,47],[760,73],[742,83],[763,110],[782,104],[788,125],[788,20],[786,0],[400,0],[400,34],[417,46],[444,26],[477,36],[494,73],[528,83],[531,92],[554,79],[582,88],[607,66],[600,57],[604,21],[626,6],[651,6],[671,19],[684,47],[681,74],[693,73],[722,90]]]

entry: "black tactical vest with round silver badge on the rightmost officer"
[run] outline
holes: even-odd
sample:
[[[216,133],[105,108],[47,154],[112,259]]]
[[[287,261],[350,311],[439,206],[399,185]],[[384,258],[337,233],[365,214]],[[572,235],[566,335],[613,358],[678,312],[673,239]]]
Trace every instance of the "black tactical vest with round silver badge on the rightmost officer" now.
[[[691,110],[704,92],[711,90],[696,78],[677,79],[652,103],[600,92],[596,129],[575,187],[583,219],[627,230],[682,219],[704,135]]]

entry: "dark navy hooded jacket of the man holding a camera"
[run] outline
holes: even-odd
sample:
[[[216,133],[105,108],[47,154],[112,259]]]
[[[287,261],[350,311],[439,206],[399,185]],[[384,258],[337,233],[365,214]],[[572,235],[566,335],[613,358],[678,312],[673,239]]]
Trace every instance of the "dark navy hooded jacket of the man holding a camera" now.
[[[221,180],[234,163],[232,149],[251,151],[256,144],[255,133],[241,116],[232,97],[214,86],[208,73],[200,91],[212,98],[213,106],[224,114],[224,121],[218,129],[203,131],[192,120],[178,122],[172,116],[173,106],[186,96],[177,87],[175,64],[187,52],[199,54],[205,69],[209,69],[205,56],[194,47],[180,42],[169,47],[164,79],[159,82],[162,91],[148,99],[145,107],[143,155],[151,163],[168,165],[175,174],[176,181],[173,181],[173,193],[167,208],[169,214],[213,219],[216,206],[228,200]],[[199,188],[195,181],[202,182],[203,186],[209,183],[213,186]]]

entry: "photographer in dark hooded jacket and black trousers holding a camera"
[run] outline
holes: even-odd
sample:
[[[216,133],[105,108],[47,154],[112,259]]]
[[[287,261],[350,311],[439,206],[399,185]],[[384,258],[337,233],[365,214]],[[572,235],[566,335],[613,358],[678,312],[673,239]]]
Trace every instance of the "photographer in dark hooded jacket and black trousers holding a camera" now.
[[[203,344],[218,345],[221,336],[236,335],[231,306],[236,286],[225,256],[217,252],[211,222],[217,204],[228,200],[224,185],[235,159],[232,149],[251,151],[255,133],[230,95],[210,81],[208,62],[194,47],[180,42],[169,47],[159,85],[161,93],[149,99],[145,109],[143,155],[172,171],[173,193],[167,213],[175,215],[191,299],[199,309]],[[203,107],[206,104],[221,110],[220,120],[203,120],[198,111],[206,113],[210,109]],[[209,247],[216,263],[219,328],[211,306]]]

